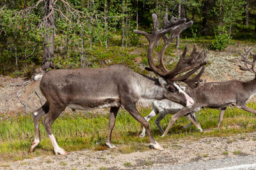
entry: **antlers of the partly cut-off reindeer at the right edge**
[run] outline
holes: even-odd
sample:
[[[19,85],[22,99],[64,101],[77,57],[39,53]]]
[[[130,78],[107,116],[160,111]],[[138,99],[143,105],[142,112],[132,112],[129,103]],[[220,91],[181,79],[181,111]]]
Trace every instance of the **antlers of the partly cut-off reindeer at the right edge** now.
[[[242,56],[241,61],[244,62],[244,66],[239,65],[239,68],[243,71],[250,71],[251,73],[256,74],[256,71],[255,71],[256,54],[252,53],[251,50],[252,50],[252,47],[250,47],[248,50],[244,48],[244,55],[243,53],[240,52],[240,55]],[[250,54],[253,57],[252,61],[248,60]]]

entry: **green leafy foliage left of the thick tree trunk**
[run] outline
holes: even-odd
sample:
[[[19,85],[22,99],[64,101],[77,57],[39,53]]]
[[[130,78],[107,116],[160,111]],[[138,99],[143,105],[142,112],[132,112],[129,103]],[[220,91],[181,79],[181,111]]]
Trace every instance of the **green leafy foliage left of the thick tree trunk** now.
[[[22,16],[16,10],[0,11],[0,73],[28,69],[40,64],[43,30],[37,29],[40,16]]]

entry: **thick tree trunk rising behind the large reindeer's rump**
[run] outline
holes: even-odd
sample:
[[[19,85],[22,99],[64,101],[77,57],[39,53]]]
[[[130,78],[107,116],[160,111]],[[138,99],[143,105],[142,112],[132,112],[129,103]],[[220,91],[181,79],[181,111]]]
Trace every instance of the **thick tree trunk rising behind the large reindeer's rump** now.
[[[42,60],[42,69],[53,68],[53,57],[54,57],[54,34],[55,34],[55,24],[54,24],[54,7],[53,0],[45,1],[45,28],[49,31],[45,34],[44,52]]]

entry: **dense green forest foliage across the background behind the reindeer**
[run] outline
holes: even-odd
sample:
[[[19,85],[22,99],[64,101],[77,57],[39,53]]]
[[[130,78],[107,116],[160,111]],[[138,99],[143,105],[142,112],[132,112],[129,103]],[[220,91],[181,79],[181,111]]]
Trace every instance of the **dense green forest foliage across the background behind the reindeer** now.
[[[38,2],[37,0],[0,2],[0,74],[27,74],[42,63],[45,34],[49,30],[42,27],[45,1]],[[129,46],[141,45],[140,36],[134,34],[133,30],[150,32],[152,13],[157,13],[159,16],[159,26],[166,12],[169,16],[178,17],[179,4],[180,17],[194,21],[193,27],[182,32],[181,38],[191,37],[198,41],[202,32],[207,29],[210,36],[215,34],[211,45],[213,50],[225,49],[229,39],[237,36],[244,38],[243,34],[246,34],[251,41],[255,39],[252,36],[255,21],[251,18],[255,18],[256,8],[252,1],[249,3],[248,27],[243,26],[245,0],[67,0],[65,2],[68,5],[57,0],[54,6],[56,10],[54,10],[53,60],[57,69],[102,66],[102,63],[99,64],[99,61],[88,53],[99,48],[102,48],[99,52],[116,49],[113,48],[116,45],[122,46],[122,50]],[[36,3],[38,6],[35,6]],[[221,29],[215,31],[209,29],[217,25]],[[95,48],[96,46],[99,48]],[[147,60],[142,60],[147,63]]]

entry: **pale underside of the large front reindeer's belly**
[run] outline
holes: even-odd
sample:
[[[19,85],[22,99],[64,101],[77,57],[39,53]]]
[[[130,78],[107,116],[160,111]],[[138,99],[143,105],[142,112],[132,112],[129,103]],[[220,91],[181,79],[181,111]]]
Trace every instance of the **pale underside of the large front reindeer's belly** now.
[[[109,107],[120,107],[119,99],[91,99],[86,101],[72,101],[68,104],[68,108],[75,110],[95,110]]]

